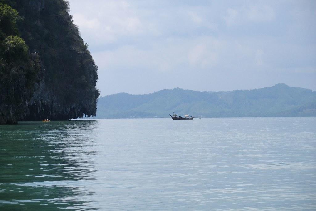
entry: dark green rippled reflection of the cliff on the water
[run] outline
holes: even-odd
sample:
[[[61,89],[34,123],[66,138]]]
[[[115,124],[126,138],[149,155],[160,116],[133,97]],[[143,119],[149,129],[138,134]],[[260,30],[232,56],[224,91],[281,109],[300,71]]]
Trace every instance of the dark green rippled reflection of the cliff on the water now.
[[[0,209],[93,210],[94,202],[87,196],[94,192],[84,183],[94,180],[97,170],[91,133],[96,124],[56,121],[2,126]]]

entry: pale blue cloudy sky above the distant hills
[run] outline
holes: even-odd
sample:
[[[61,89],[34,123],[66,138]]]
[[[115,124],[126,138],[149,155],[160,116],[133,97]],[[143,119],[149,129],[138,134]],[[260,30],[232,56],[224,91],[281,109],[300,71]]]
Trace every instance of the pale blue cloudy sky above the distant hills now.
[[[70,0],[100,96],[316,90],[316,1]]]

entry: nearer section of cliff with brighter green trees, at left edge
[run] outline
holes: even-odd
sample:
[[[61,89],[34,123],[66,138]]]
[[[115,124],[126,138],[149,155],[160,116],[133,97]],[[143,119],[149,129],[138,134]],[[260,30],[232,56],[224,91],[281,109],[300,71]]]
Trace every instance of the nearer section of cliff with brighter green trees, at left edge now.
[[[20,18],[15,9],[0,3],[0,124],[14,124],[23,118],[39,70],[18,36],[16,22]]]

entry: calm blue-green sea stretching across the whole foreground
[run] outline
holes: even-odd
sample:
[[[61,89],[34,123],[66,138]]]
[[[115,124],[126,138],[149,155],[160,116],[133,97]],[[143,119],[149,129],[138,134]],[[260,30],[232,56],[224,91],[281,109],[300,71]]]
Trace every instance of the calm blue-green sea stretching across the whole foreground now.
[[[0,210],[316,210],[316,117],[0,126]]]

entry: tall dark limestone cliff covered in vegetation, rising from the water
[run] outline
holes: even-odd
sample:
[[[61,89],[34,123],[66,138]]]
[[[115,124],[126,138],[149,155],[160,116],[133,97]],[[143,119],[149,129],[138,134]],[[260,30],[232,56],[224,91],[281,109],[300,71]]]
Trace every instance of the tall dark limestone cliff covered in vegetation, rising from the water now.
[[[64,0],[0,0],[0,124],[94,116],[97,66]]]

